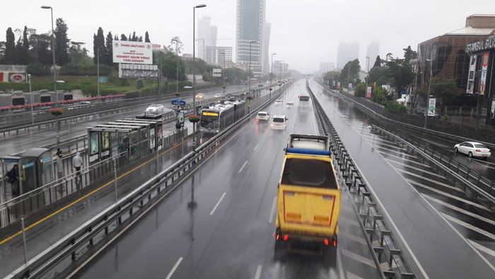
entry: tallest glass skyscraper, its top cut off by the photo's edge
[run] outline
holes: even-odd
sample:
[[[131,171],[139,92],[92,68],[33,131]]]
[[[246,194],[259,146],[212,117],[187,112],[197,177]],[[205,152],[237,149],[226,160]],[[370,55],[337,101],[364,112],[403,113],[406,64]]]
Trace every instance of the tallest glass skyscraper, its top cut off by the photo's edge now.
[[[237,0],[235,53],[237,64],[248,69],[251,59],[253,76],[262,74],[265,0]],[[255,42],[252,42],[255,41]],[[252,42],[252,44],[250,44]],[[251,45],[251,57],[250,57]]]

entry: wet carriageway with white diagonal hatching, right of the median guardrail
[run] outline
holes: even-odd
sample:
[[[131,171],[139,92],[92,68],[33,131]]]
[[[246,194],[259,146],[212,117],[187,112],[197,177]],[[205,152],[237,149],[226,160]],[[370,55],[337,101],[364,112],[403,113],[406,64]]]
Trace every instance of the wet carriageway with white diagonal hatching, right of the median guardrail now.
[[[310,81],[322,107],[397,232],[429,278],[495,274],[494,212],[479,205],[415,156],[374,135],[368,115]],[[325,91],[327,92],[327,91]],[[407,244],[407,245],[405,245]],[[405,247],[405,248],[404,248]],[[414,258],[409,258],[414,263]],[[420,274],[421,275],[421,274]]]

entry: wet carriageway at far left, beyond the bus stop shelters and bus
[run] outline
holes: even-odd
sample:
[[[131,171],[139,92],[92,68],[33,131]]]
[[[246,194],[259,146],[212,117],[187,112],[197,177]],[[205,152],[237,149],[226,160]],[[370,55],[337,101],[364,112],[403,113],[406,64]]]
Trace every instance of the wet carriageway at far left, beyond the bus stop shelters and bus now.
[[[245,86],[231,86],[226,89],[226,93],[235,93],[238,91],[242,91]],[[274,87],[274,89],[278,88],[278,86]],[[267,93],[267,90],[262,90],[262,93]],[[205,98],[212,98],[215,93],[222,93],[222,89],[218,89],[216,91],[198,91],[198,93],[204,92]],[[192,97],[185,97],[185,101],[188,103],[192,101]],[[165,107],[171,107],[170,101],[162,101],[159,103],[163,103]],[[100,123],[109,122],[111,120],[117,120],[122,118],[133,118],[134,116],[143,113],[142,110],[136,110],[129,113],[120,113],[114,115],[107,115],[102,118],[89,118],[88,120],[78,121],[76,123],[62,123],[61,132],[60,132],[60,140],[63,142],[64,140],[70,137],[75,137],[76,135],[83,135],[87,132],[86,127],[91,127],[98,125]],[[190,125],[187,124],[187,125]],[[190,125],[192,128],[192,125]],[[166,135],[168,132],[173,132],[175,130],[175,123],[168,123],[164,126],[163,133]],[[57,128],[53,127],[45,127],[44,129],[33,132],[20,132],[18,135],[12,135],[10,137],[6,137],[5,139],[1,139],[0,142],[0,156],[11,155],[22,152],[25,149],[30,147],[40,147],[45,146],[46,144],[55,143],[57,135]]]

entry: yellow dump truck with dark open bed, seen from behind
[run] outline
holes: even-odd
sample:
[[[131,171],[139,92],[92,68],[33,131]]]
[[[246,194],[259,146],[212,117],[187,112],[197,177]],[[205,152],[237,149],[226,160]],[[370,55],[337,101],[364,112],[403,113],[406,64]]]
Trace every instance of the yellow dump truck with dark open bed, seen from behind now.
[[[337,246],[341,188],[325,136],[291,135],[277,194],[275,249]]]

